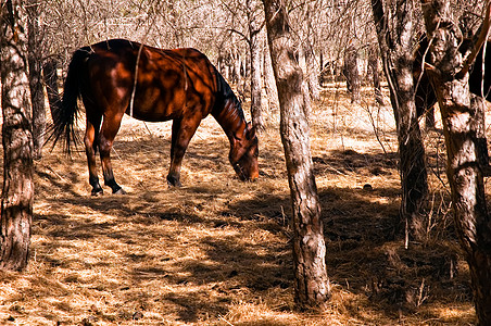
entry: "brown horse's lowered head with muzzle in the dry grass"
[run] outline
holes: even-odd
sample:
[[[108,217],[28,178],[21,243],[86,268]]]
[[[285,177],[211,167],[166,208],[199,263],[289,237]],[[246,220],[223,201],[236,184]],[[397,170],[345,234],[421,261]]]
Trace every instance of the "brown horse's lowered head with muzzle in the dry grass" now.
[[[259,141],[255,127],[248,123],[242,135],[236,135],[228,159],[242,181],[253,181],[260,176],[257,166]]]

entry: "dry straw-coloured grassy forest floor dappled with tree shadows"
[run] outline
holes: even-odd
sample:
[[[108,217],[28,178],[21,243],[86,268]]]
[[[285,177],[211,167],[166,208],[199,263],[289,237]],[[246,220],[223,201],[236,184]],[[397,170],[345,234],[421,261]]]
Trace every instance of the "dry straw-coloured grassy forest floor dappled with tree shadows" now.
[[[125,116],[113,167],[127,195],[104,188],[104,196],[90,196],[81,148],[72,159],[59,147],[46,149],[35,163],[29,264],[23,273],[0,272],[0,324],[475,323],[469,273],[453,234],[443,137],[425,133],[432,210],[427,240],[405,249],[392,110],[375,106],[365,91],[357,105],[342,87],[324,88],[311,112],[332,285],[325,310],[294,309],[277,112],[260,137],[259,181],[235,176],[228,140],[207,117],[185,156],[184,187],[172,189],[171,122]]]

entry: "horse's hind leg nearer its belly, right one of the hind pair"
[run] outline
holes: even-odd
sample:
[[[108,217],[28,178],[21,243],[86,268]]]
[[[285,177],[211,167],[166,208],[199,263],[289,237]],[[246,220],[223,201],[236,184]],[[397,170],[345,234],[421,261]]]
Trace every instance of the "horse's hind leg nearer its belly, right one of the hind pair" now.
[[[121,118],[121,116],[104,118],[99,135],[99,152],[102,173],[104,175],[104,185],[111,187],[113,193],[124,195],[126,191],[116,183],[111,164],[111,149],[113,148],[114,137],[119,129]]]

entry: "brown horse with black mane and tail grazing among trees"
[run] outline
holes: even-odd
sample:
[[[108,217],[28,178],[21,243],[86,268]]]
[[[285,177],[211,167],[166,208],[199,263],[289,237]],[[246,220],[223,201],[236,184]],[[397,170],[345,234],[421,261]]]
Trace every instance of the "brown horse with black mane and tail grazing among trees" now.
[[[180,165],[200,122],[212,114],[230,141],[229,161],[242,180],[259,177],[257,137],[246,122],[239,100],[209,59],[194,49],[162,50],[123,39],[75,51],[61,105],[53,113],[54,143],[76,141],[77,99],[86,109],[84,138],[92,195],[102,193],[96,168],[99,149],[104,184],[125,193],[111,166],[111,148],[124,113],[148,121],[173,120],[167,183],[180,186]]]

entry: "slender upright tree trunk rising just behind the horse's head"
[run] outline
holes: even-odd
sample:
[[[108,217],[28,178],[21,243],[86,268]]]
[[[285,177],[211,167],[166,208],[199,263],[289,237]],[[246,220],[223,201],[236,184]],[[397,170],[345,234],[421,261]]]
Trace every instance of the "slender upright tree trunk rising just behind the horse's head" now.
[[[261,106],[261,41],[260,32],[262,29],[261,22],[257,17],[257,3],[255,0],[247,0],[249,15],[249,35],[250,52],[251,52],[251,116],[252,125],[260,133],[264,130],[264,122]]]

